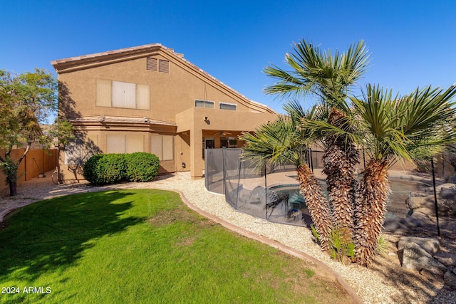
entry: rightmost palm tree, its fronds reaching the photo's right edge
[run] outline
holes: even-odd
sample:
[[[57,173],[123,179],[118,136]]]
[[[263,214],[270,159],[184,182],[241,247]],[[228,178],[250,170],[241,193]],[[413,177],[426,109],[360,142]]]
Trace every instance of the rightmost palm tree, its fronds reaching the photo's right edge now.
[[[390,192],[388,167],[399,157],[412,160],[417,150],[421,155],[432,155],[455,142],[455,94],[456,86],[452,85],[445,91],[417,89],[399,98],[390,90],[367,85],[362,99],[351,98],[362,130],[359,142],[371,158],[363,172],[354,214],[353,241],[361,265],[370,262],[383,227]]]

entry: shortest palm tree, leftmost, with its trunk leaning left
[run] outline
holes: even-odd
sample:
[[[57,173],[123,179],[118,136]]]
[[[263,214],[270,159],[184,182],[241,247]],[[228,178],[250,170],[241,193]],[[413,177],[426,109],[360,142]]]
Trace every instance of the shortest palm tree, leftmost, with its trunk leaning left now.
[[[306,144],[311,138],[310,130],[299,127],[303,117],[314,117],[316,112],[321,111],[314,107],[305,112],[296,102],[290,102],[284,108],[289,115],[281,115],[278,120],[261,125],[254,134],[244,132],[239,137],[245,142],[242,157],[253,160],[259,168],[266,164],[296,165],[301,193],[306,199],[316,231],[321,236],[321,246],[327,250],[332,228],[331,211],[318,179],[305,161]]]

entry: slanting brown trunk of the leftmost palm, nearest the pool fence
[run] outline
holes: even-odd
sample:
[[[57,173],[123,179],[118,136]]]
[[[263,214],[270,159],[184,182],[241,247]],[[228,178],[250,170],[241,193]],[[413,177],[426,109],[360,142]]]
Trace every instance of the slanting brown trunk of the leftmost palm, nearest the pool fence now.
[[[311,214],[316,231],[321,237],[321,248],[328,250],[328,236],[332,229],[332,215],[328,201],[323,194],[318,179],[314,177],[309,166],[301,164],[296,168],[301,194]]]

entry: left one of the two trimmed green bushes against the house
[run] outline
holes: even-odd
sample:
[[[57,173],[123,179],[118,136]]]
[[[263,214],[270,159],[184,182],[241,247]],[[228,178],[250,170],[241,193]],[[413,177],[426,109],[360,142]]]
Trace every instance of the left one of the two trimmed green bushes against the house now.
[[[83,167],[83,176],[90,184],[115,184],[126,179],[123,154],[97,154],[90,157]]]

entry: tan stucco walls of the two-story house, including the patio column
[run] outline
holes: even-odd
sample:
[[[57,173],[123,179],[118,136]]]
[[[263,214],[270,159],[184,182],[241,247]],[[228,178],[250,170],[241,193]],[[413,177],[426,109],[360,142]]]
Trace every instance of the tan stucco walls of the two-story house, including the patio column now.
[[[125,58],[110,61],[74,65],[71,68],[58,70],[58,80],[68,90],[67,104],[75,107],[67,117],[91,117],[98,115],[115,117],[147,117],[175,123],[176,126],[115,125],[103,123],[80,124],[86,132],[98,136],[98,147],[106,151],[106,135],[136,134],[144,135],[145,152],[150,152],[150,134],[175,135],[174,159],[161,162],[160,172],[179,172],[190,170],[193,177],[200,177],[204,162],[202,161],[202,137],[224,130],[237,136],[242,131],[252,131],[257,125],[276,119],[276,113],[263,105],[250,100],[218,80],[202,72],[195,65],[182,61],[169,51],[145,53],[141,58]],[[169,73],[147,70],[147,57],[169,61]],[[125,83],[136,83],[150,86],[150,110],[125,108],[106,108],[96,105],[97,79],[114,80]],[[195,108],[195,100],[214,102],[214,109]],[[237,105],[236,111],[219,110],[220,103]],[[260,113],[262,112],[262,113]],[[208,121],[204,121],[208,117]],[[207,133],[209,132],[209,133]],[[207,135],[206,135],[207,136]],[[182,167],[185,163],[185,168]],[[81,174],[66,174],[69,167],[63,164],[64,178],[81,178]],[[71,171],[71,170],[70,170]]]

